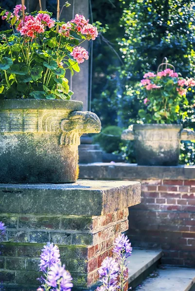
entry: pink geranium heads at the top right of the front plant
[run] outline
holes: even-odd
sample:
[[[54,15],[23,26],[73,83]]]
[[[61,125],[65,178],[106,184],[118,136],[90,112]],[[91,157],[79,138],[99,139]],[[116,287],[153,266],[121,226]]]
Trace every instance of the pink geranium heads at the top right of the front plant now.
[[[76,32],[80,32],[82,34],[87,34],[87,39],[95,40],[95,38],[98,36],[98,31],[95,26],[92,24],[89,24],[89,19],[86,20],[85,16],[78,15],[74,17],[74,19],[71,20],[71,22],[67,22],[66,24],[63,24],[62,27],[59,30],[59,33],[62,33],[62,35],[69,37],[71,30],[76,30]],[[71,25],[75,24],[75,25]]]

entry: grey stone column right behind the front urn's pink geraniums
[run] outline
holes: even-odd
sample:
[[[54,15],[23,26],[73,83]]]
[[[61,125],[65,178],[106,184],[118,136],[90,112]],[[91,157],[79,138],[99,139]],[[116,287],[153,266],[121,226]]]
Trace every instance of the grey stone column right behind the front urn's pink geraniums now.
[[[64,4],[61,1],[61,8]],[[69,0],[71,6],[64,7],[60,20],[69,21],[74,18],[75,14],[83,14],[86,19],[89,18],[89,0]],[[86,40],[82,47],[89,49],[89,42]],[[89,86],[89,60],[80,64],[81,71],[79,73],[74,72],[71,76],[70,72],[67,72],[66,78],[70,81],[70,88],[74,92],[72,100],[78,100],[83,102],[84,110],[88,110],[88,86]]]

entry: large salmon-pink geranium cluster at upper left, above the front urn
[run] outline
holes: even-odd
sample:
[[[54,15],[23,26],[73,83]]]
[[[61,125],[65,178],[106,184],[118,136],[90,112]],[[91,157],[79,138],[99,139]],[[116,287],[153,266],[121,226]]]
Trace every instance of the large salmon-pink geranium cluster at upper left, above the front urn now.
[[[20,21],[17,31],[21,35],[25,35],[31,38],[35,38],[37,33],[43,33],[45,27],[52,28],[55,21],[48,15],[39,13],[37,16],[25,16],[25,20]]]

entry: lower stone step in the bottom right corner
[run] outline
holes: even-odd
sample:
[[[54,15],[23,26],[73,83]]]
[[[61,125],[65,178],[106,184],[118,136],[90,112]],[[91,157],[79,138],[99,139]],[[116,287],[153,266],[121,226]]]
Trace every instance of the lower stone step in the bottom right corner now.
[[[163,267],[151,274],[135,291],[195,291],[195,269]]]

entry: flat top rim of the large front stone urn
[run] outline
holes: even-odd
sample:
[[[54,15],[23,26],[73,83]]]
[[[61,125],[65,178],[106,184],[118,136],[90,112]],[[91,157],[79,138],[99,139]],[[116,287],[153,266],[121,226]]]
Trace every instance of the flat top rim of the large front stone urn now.
[[[3,99],[0,100],[0,110],[16,109],[66,109],[83,111],[83,102],[76,100],[47,99]]]

